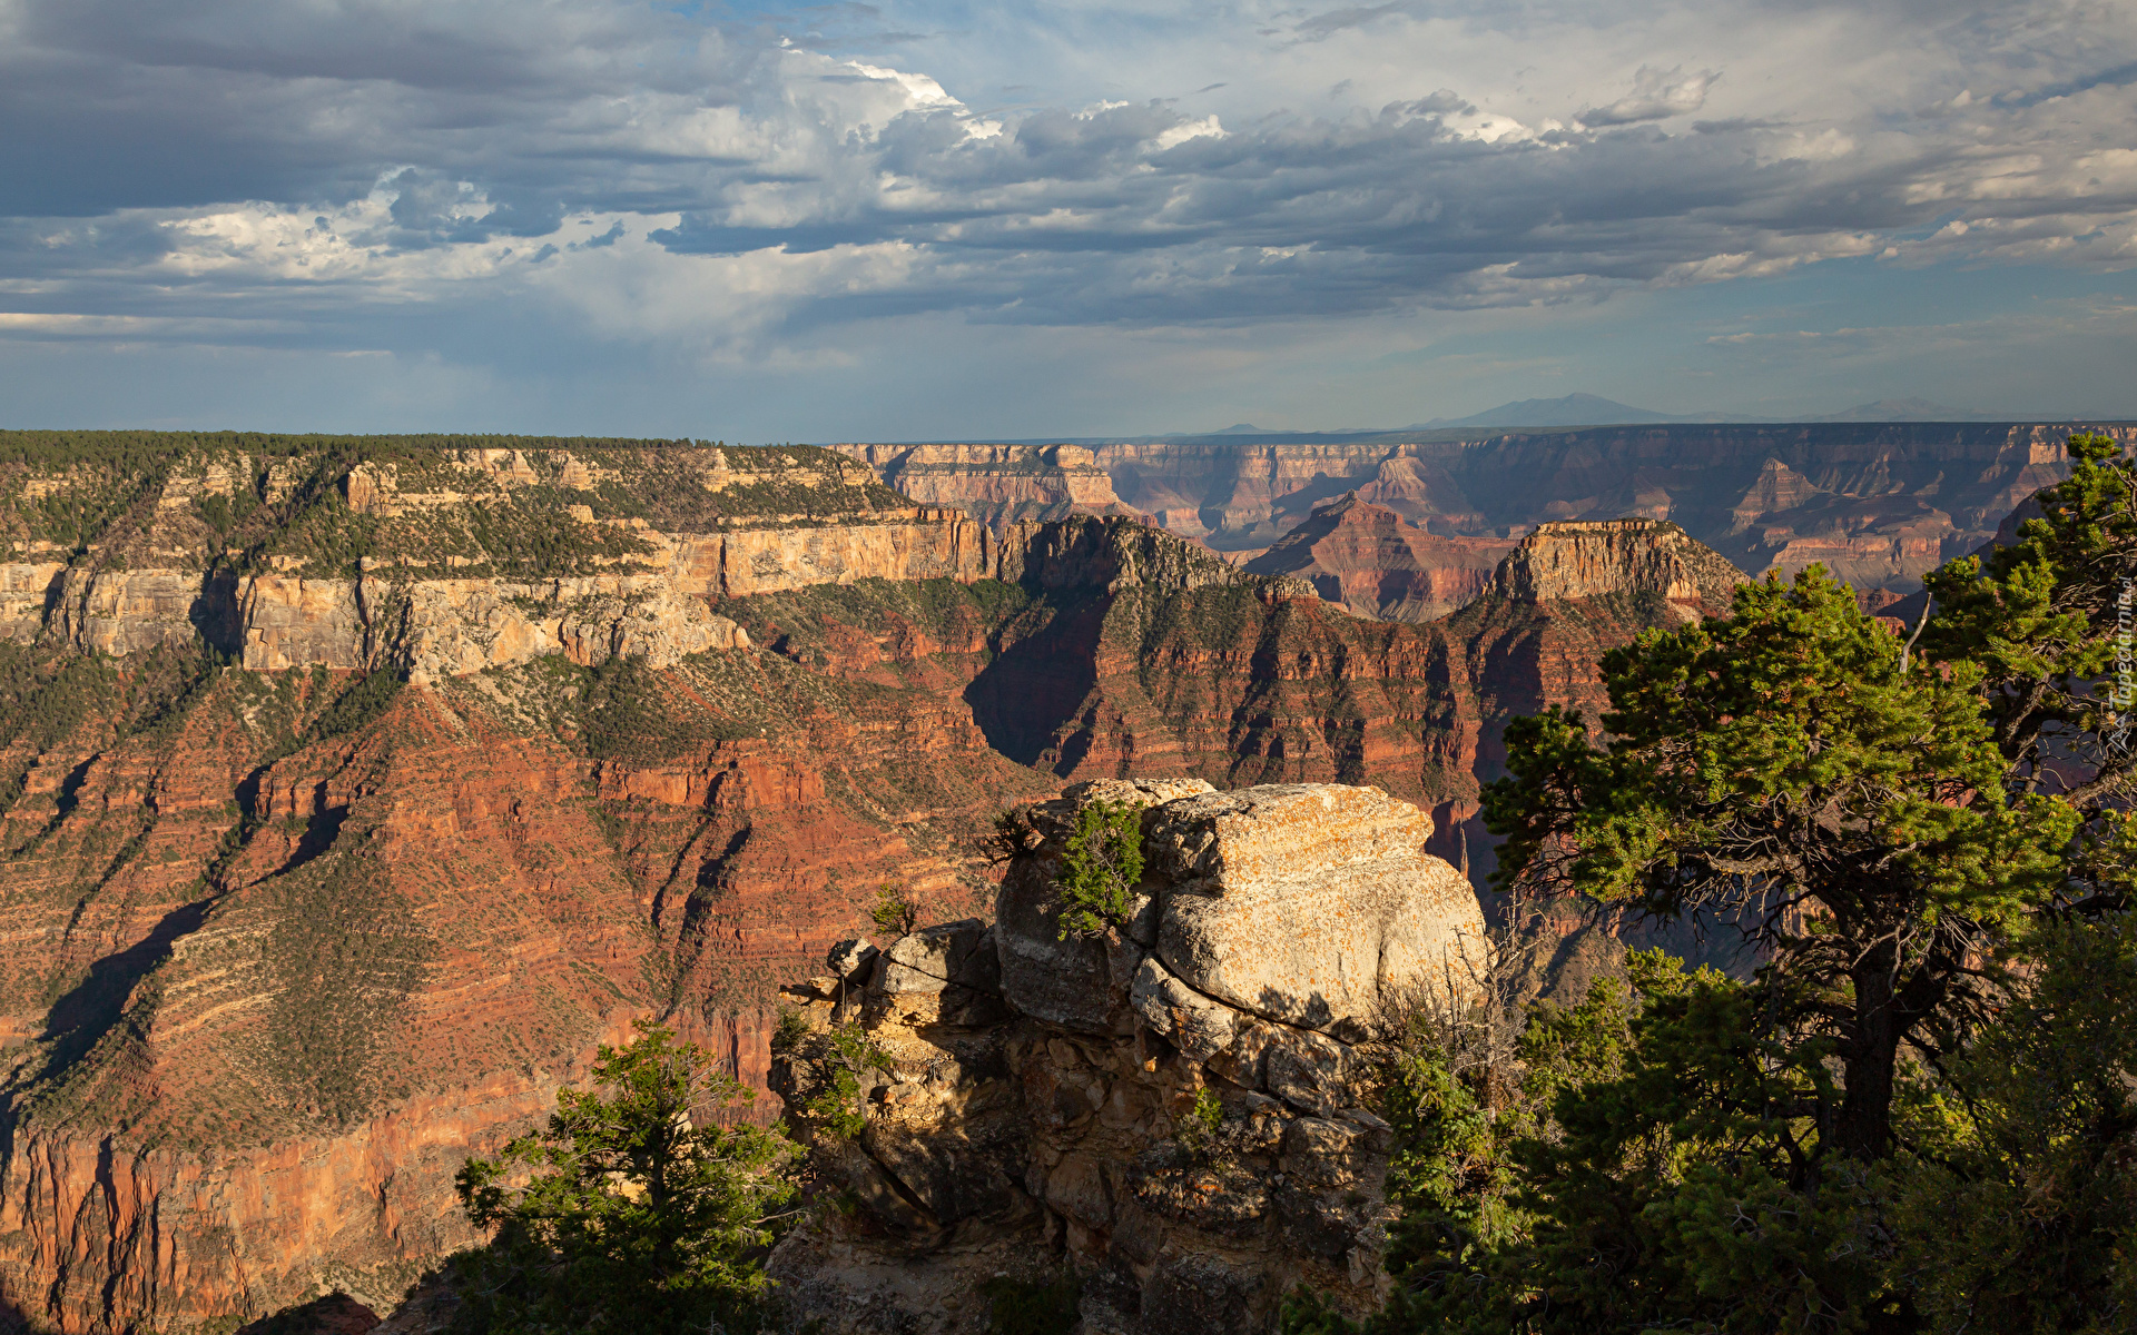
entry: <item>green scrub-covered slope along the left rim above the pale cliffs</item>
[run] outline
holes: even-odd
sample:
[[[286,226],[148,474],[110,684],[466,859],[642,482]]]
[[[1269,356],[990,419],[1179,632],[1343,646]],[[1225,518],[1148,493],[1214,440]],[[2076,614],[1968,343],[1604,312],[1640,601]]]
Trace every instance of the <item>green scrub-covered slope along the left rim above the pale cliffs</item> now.
[[[177,487],[177,491],[171,491]],[[385,508],[350,500],[385,487]],[[184,500],[165,508],[167,498]],[[568,519],[586,506],[588,521]],[[558,577],[654,553],[633,523],[823,523],[910,502],[812,446],[528,436],[0,431],[0,536],[98,566]]]

